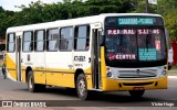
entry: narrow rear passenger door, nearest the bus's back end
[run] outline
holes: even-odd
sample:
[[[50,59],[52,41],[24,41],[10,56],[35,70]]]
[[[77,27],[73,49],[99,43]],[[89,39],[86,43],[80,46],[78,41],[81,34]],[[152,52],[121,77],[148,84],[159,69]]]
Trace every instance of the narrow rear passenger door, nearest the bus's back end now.
[[[22,73],[21,73],[21,35],[17,33],[15,36],[15,74],[17,74],[17,80],[22,80]]]

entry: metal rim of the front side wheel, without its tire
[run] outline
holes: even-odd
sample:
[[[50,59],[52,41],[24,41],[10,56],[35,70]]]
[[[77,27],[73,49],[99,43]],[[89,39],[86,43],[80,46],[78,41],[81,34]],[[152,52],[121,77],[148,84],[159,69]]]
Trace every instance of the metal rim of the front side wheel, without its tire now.
[[[85,91],[86,91],[86,85],[85,85],[85,81],[83,79],[81,79],[79,81],[79,95],[81,97],[85,96]]]

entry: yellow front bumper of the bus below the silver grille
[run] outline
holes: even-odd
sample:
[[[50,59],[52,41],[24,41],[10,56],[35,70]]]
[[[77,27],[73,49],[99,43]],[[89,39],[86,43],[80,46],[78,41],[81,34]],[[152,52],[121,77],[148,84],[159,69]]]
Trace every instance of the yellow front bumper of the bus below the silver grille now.
[[[110,79],[103,78],[103,91],[167,89],[167,76],[156,79]]]

